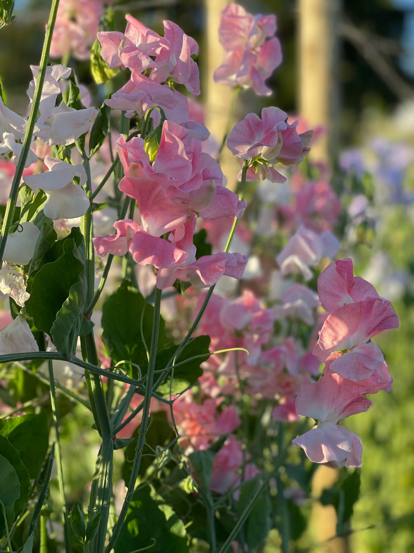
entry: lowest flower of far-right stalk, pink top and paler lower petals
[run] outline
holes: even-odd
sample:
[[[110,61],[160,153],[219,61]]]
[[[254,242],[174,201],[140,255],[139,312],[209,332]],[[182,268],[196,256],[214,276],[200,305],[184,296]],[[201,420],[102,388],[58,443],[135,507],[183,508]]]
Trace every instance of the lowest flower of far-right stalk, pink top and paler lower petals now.
[[[307,384],[296,398],[296,413],[317,420],[317,426],[292,440],[314,463],[335,461],[346,467],[360,467],[362,444],[353,432],[337,422],[363,413],[371,405],[358,384],[337,374],[322,376]]]

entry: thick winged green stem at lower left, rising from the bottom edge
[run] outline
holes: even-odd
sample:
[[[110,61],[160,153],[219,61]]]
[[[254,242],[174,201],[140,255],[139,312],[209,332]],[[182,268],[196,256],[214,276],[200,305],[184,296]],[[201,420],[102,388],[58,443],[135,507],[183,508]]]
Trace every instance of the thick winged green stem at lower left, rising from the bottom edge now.
[[[87,362],[99,364],[93,332],[81,337],[82,357]],[[109,373],[109,371],[107,371]],[[92,482],[90,512],[102,512],[98,533],[91,543],[91,553],[102,553],[105,546],[109,518],[110,500],[112,498],[112,473],[114,462],[114,442],[108,416],[107,401],[102,385],[102,379],[92,372],[85,372],[86,385],[91,401],[95,424],[102,436],[97,459],[95,478]]]

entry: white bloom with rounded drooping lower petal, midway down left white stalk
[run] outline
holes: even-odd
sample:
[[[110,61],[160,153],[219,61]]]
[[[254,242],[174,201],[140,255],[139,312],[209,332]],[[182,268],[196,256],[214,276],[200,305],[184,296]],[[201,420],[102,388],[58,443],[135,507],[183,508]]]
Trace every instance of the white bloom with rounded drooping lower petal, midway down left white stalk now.
[[[89,198],[82,188],[86,182],[83,166],[72,165],[49,156],[45,158],[45,164],[49,168],[47,173],[25,176],[24,182],[35,194],[39,188],[45,191],[47,201],[43,211],[46,217],[53,220],[82,217],[90,205]],[[72,182],[75,176],[80,179],[79,186]]]

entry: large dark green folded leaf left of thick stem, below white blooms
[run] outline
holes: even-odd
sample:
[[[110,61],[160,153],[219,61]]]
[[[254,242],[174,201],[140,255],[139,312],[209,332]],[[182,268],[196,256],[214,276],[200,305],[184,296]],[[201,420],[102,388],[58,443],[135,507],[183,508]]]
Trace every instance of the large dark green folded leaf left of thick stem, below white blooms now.
[[[77,233],[79,229],[72,229],[44,254],[42,263],[46,263],[36,271],[25,303],[36,328],[49,334],[57,351],[65,356],[76,346],[86,300],[85,248],[82,234],[79,242]],[[59,253],[56,260],[47,262]]]

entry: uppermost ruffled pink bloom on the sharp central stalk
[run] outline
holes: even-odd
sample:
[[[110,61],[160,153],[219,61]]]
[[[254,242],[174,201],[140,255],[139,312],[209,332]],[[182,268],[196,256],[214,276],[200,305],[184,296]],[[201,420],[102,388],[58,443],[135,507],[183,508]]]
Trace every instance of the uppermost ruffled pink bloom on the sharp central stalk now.
[[[161,83],[170,79],[198,96],[199,70],[191,57],[198,55],[197,42],[172,21],[163,22],[164,36],[161,37],[132,15],[127,14],[125,18],[128,20],[125,34],[98,33],[101,55],[109,67],[128,67],[135,74],[151,69],[151,80]]]

